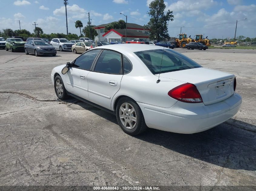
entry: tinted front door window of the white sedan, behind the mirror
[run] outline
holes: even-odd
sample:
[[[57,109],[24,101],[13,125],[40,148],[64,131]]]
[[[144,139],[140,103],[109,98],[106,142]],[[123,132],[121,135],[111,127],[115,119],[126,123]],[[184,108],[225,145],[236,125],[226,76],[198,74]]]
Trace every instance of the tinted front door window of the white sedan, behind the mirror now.
[[[75,60],[73,67],[90,70],[92,62],[100,51],[100,49],[95,49],[82,54]]]

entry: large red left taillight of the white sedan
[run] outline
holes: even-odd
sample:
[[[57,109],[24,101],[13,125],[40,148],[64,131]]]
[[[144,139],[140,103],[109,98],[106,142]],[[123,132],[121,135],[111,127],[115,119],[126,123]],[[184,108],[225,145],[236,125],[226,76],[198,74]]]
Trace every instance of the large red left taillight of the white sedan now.
[[[168,95],[176,100],[186,103],[201,103],[202,97],[194,84],[181,84],[168,92]]]

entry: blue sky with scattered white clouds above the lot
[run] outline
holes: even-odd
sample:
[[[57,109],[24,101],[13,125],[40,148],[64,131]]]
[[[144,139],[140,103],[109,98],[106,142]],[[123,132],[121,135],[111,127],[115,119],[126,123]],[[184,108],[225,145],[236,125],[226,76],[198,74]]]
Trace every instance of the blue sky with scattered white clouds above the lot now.
[[[90,12],[91,23],[105,24],[124,19],[129,23],[144,25],[149,21],[147,11],[151,0],[68,0],[68,32],[79,34],[75,21],[84,26]],[[237,35],[256,37],[255,0],[165,0],[166,9],[173,11],[174,21],[170,21],[168,31],[171,37],[182,32],[194,37],[204,34],[208,38],[234,37],[236,20]],[[33,31],[34,21],[45,33],[66,33],[65,7],[63,0],[0,0],[0,30],[21,28]]]

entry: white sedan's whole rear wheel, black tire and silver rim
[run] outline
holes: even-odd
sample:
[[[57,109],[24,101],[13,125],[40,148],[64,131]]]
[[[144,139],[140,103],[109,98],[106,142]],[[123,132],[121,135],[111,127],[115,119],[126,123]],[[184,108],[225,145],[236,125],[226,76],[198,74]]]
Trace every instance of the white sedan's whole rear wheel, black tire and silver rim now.
[[[128,135],[141,134],[148,128],[140,107],[129,97],[118,100],[115,113],[119,126]]]

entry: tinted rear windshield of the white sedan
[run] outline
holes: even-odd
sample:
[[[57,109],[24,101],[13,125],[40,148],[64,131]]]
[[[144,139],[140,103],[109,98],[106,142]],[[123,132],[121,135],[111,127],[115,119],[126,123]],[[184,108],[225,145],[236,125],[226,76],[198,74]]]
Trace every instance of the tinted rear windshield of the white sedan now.
[[[161,74],[202,66],[181,53],[170,49],[156,49],[135,52],[152,74]]]

